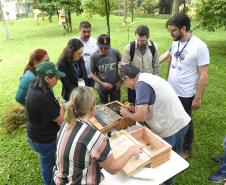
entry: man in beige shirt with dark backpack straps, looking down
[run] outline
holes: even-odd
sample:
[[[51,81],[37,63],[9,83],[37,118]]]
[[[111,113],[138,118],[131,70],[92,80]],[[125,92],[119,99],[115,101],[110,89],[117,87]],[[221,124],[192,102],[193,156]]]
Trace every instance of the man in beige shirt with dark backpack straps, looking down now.
[[[140,25],[135,31],[136,40],[125,47],[125,53],[121,62],[136,66],[142,73],[160,75],[158,48],[149,40],[149,28]],[[134,90],[128,89],[128,101],[135,103]]]

